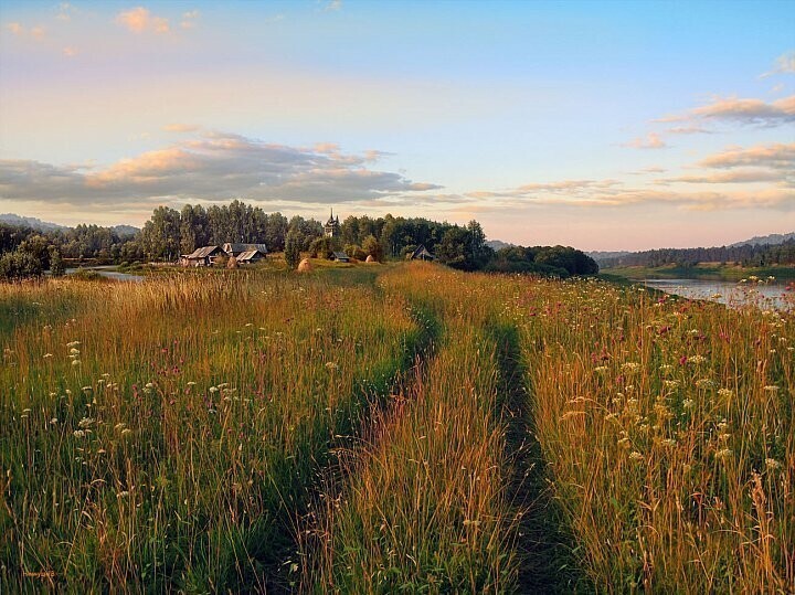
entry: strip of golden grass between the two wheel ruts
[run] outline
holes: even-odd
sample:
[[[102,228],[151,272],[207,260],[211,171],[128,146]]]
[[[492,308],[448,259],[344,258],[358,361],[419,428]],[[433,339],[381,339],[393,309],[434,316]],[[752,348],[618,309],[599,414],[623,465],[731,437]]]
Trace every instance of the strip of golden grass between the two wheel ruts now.
[[[504,592],[516,565],[487,279],[415,265],[380,283],[443,332],[348,485],[327,493],[307,591]]]

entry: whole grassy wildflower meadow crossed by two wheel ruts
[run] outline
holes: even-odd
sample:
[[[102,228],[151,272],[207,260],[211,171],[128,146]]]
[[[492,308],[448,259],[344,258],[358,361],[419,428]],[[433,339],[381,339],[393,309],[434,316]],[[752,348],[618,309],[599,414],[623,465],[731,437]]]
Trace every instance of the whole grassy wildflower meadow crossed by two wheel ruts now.
[[[428,264],[0,286],[0,591],[792,592],[795,318]]]

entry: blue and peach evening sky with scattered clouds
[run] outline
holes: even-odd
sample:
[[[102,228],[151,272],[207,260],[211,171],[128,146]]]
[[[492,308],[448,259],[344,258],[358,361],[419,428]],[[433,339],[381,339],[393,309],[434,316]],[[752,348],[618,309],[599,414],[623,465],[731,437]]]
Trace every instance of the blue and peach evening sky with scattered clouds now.
[[[0,213],[233,199],[589,251],[795,231],[795,2],[0,0]]]

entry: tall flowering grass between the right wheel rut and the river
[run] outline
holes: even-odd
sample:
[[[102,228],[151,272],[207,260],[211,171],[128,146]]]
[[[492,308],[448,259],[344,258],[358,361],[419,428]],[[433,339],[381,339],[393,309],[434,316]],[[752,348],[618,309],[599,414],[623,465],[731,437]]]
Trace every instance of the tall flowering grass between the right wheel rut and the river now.
[[[795,319],[529,283],[538,437],[600,589],[792,592]]]

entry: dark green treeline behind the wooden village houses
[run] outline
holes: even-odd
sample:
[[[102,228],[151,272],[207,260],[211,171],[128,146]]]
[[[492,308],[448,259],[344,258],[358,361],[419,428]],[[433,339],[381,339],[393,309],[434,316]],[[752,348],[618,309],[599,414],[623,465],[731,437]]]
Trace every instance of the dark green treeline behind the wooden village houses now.
[[[34,231],[0,224],[0,277],[23,278],[59,270],[63,259],[89,258],[103,264],[145,261],[176,262],[198,247],[225,242],[265,244],[268,252],[285,252],[292,265],[301,253],[330,256],[344,251],[354,258],[405,258],[424,245],[438,262],[462,270],[536,273],[568,277],[598,272],[596,263],[571,247],[509,247],[498,252],[486,245],[477,221],[467,225],[422,217],[385,215],[348,216],[332,240],[324,225],[299,215],[265,213],[241,201],[230,204],[187,204],[181,210],[159,206],[142,230],[120,235],[110,227],[77,225],[74,229]]]

